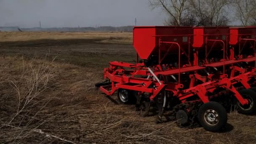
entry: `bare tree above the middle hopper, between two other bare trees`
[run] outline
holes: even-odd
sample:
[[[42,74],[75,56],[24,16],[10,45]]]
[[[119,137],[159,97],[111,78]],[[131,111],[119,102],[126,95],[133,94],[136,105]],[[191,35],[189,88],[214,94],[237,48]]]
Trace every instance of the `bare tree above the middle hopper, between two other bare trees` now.
[[[189,11],[197,17],[197,26],[224,26],[229,23],[231,0],[189,0]]]

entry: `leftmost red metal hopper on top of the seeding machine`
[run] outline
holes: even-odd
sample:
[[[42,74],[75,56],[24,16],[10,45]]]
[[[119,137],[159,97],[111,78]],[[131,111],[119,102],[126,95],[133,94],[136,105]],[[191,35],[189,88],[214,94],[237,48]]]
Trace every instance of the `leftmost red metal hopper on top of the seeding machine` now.
[[[141,59],[148,59],[150,55],[158,54],[159,47],[161,52],[165,53],[170,45],[159,45],[159,39],[165,42],[176,42],[181,47],[188,47],[189,36],[192,37],[192,27],[134,27],[133,29],[133,46]],[[187,41],[184,41],[186,39]],[[178,51],[174,46],[172,51]]]

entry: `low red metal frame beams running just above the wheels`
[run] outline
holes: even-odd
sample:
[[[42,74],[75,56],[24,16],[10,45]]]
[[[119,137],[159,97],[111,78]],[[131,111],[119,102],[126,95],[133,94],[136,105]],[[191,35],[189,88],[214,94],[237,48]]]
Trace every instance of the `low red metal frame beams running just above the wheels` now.
[[[159,83],[157,83],[157,81],[152,79],[120,76],[120,73],[115,73],[119,72],[118,70],[112,73],[111,72],[112,70],[109,69],[105,71],[105,75],[107,75],[109,80],[112,81],[112,84],[100,87],[100,90],[106,93],[108,96],[111,96],[113,93],[115,93],[118,88],[123,88],[133,91],[140,91],[141,93],[152,93],[152,95],[150,96],[150,100],[153,100],[160,91],[165,89],[165,91],[173,92],[173,95],[177,96],[183,102],[186,101],[188,97],[197,94],[204,103],[207,103],[209,99],[214,97],[207,96],[207,91],[212,92],[216,88],[222,87],[234,93],[241,104],[248,103],[248,101],[246,99],[243,99],[243,97],[233,87],[232,84],[234,82],[232,83],[231,80],[229,80],[228,78],[224,78],[219,81],[209,81],[186,90],[180,90],[181,88],[183,88],[183,85],[179,83],[165,83],[164,81],[160,81],[161,83],[164,83],[163,85],[160,85]],[[151,85],[155,85],[155,87],[150,88],[149,86]],[[108,89],[111,89],[111,91],[108,91]]]

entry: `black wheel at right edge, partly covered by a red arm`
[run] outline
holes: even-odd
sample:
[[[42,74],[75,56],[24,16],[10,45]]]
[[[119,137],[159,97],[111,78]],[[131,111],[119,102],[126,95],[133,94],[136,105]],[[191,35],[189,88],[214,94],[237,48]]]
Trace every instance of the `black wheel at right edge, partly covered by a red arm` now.
[[[253,114],[256,111],[256,93],[251,89],[240,90],[239,93],[244,99],[248,100],[248,104],[242,105],[238,102],[237,111],[244,115]]]

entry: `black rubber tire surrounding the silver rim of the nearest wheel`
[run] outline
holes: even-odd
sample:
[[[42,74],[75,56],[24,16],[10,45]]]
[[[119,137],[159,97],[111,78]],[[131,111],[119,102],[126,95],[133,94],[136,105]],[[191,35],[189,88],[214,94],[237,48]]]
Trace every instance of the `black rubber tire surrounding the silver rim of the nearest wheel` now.
[[[216,124],[211,125],[207,122],[205,119],[205,112],[214,110],[216,114],[218,114],[218,122]],[[217,132],[221,131],[222,128],[227,124],[227,112],[226,109],[215,101],[210,101],[208,103],[203,104],[198,111],[198,120],[200,125],[206,130],[206,131],[212,131]]]

